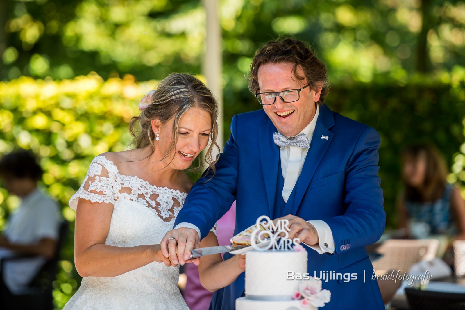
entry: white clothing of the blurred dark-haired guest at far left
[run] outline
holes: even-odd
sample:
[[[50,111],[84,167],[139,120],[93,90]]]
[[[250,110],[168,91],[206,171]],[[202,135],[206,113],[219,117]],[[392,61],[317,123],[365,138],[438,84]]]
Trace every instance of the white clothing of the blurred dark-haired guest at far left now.
[[[37,243],[43,238],[57,240],[60,220],[57,202],[36,189],[24,197],[17,212],[10,216],[4,235],[17,244]],[[16,252],[0,247],[0,258],[15,255]],[[7,262],[3,280],[14,294],[24,289],[45,262],[45,257],[40,256]]]

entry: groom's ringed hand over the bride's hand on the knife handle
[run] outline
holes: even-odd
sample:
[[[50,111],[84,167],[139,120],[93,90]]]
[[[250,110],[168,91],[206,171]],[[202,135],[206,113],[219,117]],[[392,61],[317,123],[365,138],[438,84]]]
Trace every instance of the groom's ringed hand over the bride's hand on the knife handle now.
[[[199,234],[195,229],[180,227],[168,231],[161,239],[160,247],[161,253],[165,257],[169,257],[174,265],[178,263],[184,265],[186,262],[199,265],[199,258],[188,260],[191,256],[191,249],[199,248],[199,244]]]

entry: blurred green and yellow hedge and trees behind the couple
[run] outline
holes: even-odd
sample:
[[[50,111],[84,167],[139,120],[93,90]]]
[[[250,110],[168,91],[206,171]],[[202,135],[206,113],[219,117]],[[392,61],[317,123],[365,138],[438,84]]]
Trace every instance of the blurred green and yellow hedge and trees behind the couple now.
[[[437,145],[449,181],[465,185],[463,0],[218,4],[226,139],[233,115],[260,108],[244,78],[255,50],[294,34],[327,65],[326,104],[381,136],[387,227],[397,223],[406,145]],[[171,72],[201,73],[205,20],[200,0],[0,0],[0,155],[16,146],[39,154],[43,186],[73,222],[67,201],[95,155],[130,147],[140,98]],[[0,188],[0,228],[18,204]],[[70,229],[53,283],[57,309],[80,283]]]

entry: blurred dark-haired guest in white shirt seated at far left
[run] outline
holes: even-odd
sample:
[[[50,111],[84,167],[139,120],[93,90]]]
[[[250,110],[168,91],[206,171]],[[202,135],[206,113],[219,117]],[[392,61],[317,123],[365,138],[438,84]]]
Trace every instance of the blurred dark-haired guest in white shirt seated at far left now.
[[[58,238],[60,215],[57,202],[37,188],[42,168],[26,150],[4,155],[0,160],[0,178],[8,192],[21,198],[21,204],[8,219],[0,234],[0,259],[32,256],[5,263],[3,283],[11,293],[27,286],[46,260],[52,258]]]

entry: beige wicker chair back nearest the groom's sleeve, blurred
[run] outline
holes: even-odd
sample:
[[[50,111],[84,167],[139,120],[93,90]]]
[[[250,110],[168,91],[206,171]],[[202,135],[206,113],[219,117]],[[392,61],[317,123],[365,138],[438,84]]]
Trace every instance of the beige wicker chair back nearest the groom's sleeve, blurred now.
[[[382,256],[373,262],[373,268],[408,272],[413,264],[434,259],[438,246],[439,241],[436,239],[386,240],[376,249]]]

